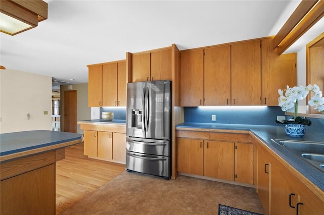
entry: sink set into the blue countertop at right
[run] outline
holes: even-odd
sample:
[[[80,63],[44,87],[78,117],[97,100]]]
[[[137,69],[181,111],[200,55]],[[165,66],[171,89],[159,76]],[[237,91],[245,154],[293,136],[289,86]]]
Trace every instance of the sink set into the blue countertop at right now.
[[[324,142],[271,139],[324,172]]]

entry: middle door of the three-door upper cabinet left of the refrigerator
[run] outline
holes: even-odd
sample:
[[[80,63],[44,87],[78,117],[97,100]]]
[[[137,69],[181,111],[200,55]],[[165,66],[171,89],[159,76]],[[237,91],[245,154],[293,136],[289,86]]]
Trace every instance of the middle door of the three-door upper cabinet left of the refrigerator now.
[[[102,106],[117,106],[117,63],[102,65]]]

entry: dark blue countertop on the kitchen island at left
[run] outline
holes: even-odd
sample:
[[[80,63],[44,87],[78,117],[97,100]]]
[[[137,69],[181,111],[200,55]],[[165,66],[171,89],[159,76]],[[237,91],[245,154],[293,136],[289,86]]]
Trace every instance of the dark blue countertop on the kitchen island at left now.
[[[47,130],[0,134],[0,156],[79,139],[83,134]]]

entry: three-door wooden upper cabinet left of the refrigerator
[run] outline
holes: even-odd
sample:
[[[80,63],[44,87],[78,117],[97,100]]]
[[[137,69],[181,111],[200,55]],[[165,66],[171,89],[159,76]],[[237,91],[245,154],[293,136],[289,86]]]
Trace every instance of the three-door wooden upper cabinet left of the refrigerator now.
[[[88,67],[88,106],[126,106],[126,61]]]

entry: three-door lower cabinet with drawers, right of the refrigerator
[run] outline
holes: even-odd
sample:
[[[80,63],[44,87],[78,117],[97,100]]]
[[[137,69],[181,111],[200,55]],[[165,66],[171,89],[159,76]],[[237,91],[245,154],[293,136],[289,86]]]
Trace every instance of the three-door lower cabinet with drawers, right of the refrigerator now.
[[[254,183],[254,146],[246,134],[212,133],[211,138],[194,139],[199,132],[178,133],[191,138],[178,137],[178,172],[206,176],[227,181]],[[206,136],[206,132],[202,132]],[[208,135],[209,136],[209,135]],[[229,141],[232,138],[235,141]]]

